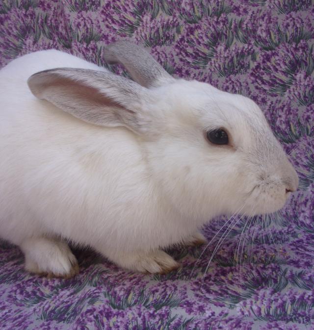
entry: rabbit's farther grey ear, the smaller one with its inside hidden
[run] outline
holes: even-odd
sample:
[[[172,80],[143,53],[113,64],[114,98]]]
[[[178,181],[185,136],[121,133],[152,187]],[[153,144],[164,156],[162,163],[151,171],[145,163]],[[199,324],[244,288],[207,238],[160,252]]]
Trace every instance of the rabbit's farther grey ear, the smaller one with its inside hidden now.
[[[143,47],[124,39],[105,48],[109,64],[121,63],[132,79],[144,87],[158,87],[175,81]]]

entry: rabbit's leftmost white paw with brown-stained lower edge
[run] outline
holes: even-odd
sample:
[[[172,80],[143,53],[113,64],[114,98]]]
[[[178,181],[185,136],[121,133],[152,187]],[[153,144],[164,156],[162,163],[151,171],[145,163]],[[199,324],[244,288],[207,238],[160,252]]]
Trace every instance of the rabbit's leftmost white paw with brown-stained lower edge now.
[[[78,274],[78,261],[64,242],[45,237],[30,238],[21,248],[25,254],[25,269],[30,273],[65,279]]]

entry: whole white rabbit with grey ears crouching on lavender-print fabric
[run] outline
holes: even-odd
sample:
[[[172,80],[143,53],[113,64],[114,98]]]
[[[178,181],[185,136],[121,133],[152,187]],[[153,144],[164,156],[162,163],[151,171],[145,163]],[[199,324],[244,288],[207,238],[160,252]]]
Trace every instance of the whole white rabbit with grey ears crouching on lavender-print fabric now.
[[[170,76],[142,46],[108,64],[46,50],[0,70],[0,236],[31,273],[69,278],[68,243],[136,272],[180,264],[164,250],[206,241],[222,214],[282,208],[296,171],[252,100]]]

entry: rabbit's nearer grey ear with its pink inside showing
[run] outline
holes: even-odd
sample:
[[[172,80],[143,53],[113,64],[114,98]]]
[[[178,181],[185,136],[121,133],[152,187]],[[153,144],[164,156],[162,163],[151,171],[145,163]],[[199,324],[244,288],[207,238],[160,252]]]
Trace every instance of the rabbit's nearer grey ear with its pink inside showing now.
[[[38,72],[27,83],[37,98],[86,122],[124,126],[136,133],[150,129],[152,118],[145,106],[149,90],[130,79],[110,72],[59,68]]]

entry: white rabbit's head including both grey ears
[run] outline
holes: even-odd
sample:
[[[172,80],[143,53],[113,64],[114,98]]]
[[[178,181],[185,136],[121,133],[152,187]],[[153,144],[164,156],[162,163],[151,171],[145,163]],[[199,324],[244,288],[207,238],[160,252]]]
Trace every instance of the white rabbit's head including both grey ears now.
[[[131,79],[52,69],[31,76],[33,94],[96,125],[136,135],[164,203],[192,218],[274,212],[298,177],[258,105],[198,81],[175,79],[129,41],[107,47]]]

